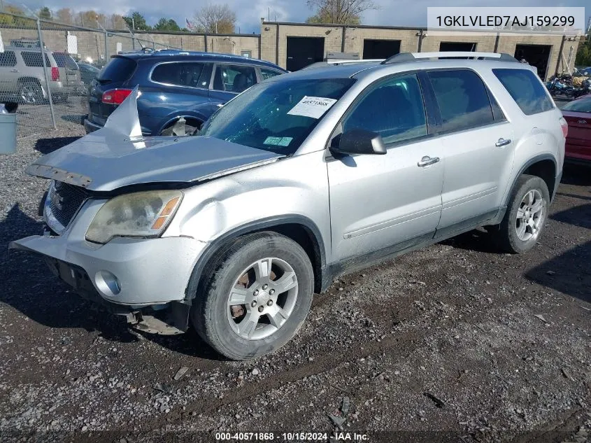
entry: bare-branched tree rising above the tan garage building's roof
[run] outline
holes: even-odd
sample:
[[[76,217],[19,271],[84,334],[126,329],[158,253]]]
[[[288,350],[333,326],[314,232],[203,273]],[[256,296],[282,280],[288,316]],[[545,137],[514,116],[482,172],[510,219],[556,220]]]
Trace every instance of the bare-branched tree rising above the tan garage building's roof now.
[[[373,0],[307,0],[316,13],[308,23],[359,24],[366,10],[379,9]]]

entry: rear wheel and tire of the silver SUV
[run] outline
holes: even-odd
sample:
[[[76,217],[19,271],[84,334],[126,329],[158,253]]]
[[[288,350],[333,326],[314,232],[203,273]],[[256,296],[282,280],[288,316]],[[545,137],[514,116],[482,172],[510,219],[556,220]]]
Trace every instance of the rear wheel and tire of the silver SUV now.
[[[532,199],[531,204],[528,198]],[[538,204],[541,206],[536,211]],[[532,249],[546,225],[549,206],[550,193],[546,182],[536,176],[520,176],[499,229],[491,232],[497,246],[502,251],[517,254]],[[529,208],[534,211],[529,211]],[[527,223],[525,220],[528,220]]]

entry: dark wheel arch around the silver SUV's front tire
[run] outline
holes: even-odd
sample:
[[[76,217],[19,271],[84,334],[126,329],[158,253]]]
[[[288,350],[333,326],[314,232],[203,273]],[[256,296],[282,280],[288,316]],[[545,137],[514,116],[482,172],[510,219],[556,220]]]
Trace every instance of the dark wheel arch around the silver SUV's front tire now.
[[[312,263],[314,271],[314,292],[320,293],[330,284],[327,283],[326,253],[325,244],[318,226],[308,217],[299,214],[290,214],[285,216],[275,216],[263,218],[256,222],[248,223],[233,230],[225,232],[220,237],[214,239],[206,248],[201,258],[197,260],[187,284],[187,293],[185,300],[192,300],[197,292],[201,290],[204,283],[202,276],[208,274],[215,260],[220,257],[227,247],[239,237],[255,232],[271,231],[282,234],[299,244]]]

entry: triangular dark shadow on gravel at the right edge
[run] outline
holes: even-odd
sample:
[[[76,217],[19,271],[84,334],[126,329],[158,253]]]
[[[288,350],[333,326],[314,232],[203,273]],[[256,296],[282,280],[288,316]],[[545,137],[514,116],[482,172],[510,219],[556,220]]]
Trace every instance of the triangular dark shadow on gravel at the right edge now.
[[[591,241],[534,267],[525,278],[563,294],[591,302]]]

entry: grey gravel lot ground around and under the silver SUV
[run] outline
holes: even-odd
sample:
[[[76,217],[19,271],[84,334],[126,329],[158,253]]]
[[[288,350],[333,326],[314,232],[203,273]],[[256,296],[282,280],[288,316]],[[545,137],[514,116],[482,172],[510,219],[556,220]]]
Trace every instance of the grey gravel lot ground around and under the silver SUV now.
[[[29,136],[0,157],[2,442],[263,430],[283,441],[283,432],[331,435],[337,424],[370,442],[587,441],[590,169],[565,170],[530,253],[495,253],[474,231],[345,276],[315,297],[287,346],[236,363],[194,332],[134,332],[39,258],[8,254],[8,241],[41,232],[46,183],[24,167],[80,134],[71,125],[44,134],[57,138]]]

